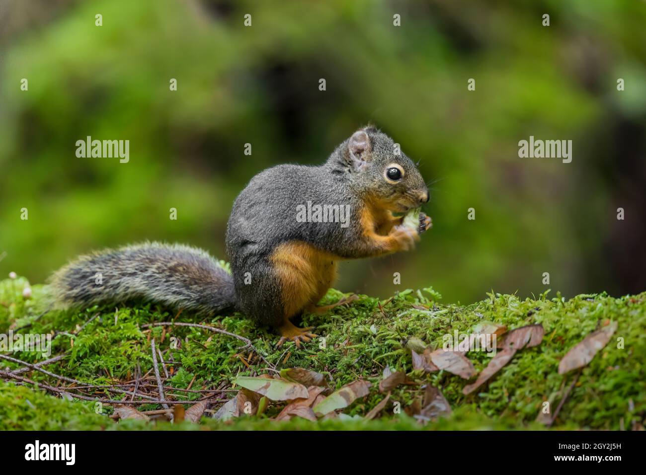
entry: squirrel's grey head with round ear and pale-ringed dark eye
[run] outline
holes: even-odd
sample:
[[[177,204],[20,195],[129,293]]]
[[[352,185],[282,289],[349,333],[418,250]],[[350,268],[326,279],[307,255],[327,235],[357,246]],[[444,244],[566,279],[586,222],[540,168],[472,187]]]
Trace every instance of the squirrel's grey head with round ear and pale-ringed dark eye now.
[[[379,207],[401,213],[428,202],[428,187],[417,165],[375,127],[352,134],[331,159]]]

